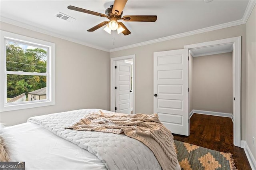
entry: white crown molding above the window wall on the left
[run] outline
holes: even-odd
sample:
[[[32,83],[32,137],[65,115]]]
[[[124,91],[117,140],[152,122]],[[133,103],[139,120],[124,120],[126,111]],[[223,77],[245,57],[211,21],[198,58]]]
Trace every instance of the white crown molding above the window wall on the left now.
[[[85,43],[85,42],[82,42],[82,41],[79,41],[79,40],[76,40],[76,39],[73,39],[73,38],[69,38],[69,37],[66,37],[66,36],[62,36],[62,35],[57,34],[55,32],[51,32],[51,31],[48,31],[46,29],[39,28],[39,27],[36,27],[36,26],[32,26],[31,23],[19,22],[19,21],[16,21],[16,20],[12,20],[10,18],[6,18],[4,16],[0,16],[0,21],[1,22],[5,22],[7,24],[12,24],[14,26],[19,26],[19,27],[22,27],[22,28],[26,28],[28,30],[40,32],[42,34],[47,34],[49,36],[54,36],[56,38],[61,38],[63,40],[68,40],[70,42],[79,43],[81,45],[86,45],[88,47],[92,47],[92,48],[95,48],[95,49],[99,49],[99,50],[102,50],[102,51],[109,52],[109,49],[102,48],[102,47],[99,47],[99,46],[96,46],[96,45],[92,45],[92,44],[89,44],[89,43]]]

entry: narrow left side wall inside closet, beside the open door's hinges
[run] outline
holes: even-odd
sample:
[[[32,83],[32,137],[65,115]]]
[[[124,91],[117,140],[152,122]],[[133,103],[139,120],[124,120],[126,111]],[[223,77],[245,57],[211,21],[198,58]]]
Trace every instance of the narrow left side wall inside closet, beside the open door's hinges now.
[[[194,57],[189,53],[189,112],[193,110],[193,62]]]

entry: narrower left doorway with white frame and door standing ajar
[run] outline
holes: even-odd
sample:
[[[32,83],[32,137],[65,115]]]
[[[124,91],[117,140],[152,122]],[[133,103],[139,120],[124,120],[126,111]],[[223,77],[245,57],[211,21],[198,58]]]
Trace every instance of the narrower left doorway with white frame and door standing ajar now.
[[[111,111],[135,113],[135,55],[111,59]]]

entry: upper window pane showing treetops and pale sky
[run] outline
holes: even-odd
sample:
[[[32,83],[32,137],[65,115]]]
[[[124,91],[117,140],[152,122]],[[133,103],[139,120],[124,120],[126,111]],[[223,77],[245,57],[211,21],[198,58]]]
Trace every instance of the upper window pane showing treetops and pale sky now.
[[[46,73],[47,49],[6,41],[6,70]]]

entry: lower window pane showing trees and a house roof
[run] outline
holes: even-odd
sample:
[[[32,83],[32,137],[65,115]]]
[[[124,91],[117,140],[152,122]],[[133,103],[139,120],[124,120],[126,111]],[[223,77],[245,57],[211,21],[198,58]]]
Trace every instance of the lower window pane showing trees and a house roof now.
[[[7,75],[7,103],[46,99],[46,76]]]

